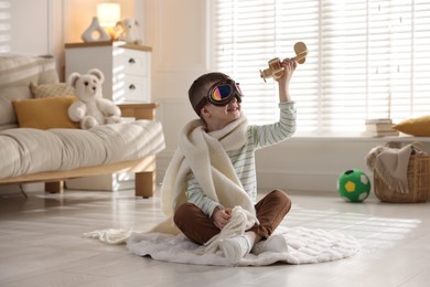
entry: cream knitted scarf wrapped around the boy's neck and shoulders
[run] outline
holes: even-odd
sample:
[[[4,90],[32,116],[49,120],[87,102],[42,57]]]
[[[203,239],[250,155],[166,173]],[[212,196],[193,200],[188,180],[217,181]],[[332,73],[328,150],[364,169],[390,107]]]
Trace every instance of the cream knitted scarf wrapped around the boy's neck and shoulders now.
[[[213,132],[206,132],[206,126],[200,119],[184,126],[161,187],[162,210],[169,220],[157,225],[153,232],[179,233],[172,217],[174,211],[186,202],[186,176],[190,171],[193,171],[205,195],[225,208],[239,205],[255,214],[254,202],[226,153],[245,145],[247,127],[245,116]]]

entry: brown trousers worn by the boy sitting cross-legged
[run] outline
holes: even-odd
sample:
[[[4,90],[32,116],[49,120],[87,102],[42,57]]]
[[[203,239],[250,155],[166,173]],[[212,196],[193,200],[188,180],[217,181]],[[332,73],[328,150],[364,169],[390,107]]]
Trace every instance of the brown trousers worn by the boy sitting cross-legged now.
[[[256,205],[259,225],[254,225],[249,231],[267,238],[281,223],[291,209],[291,200],[286,192],[273,190],[264,196]],[[176,226],[194,243],[204,244],[221,230],[214,224],[201,209],[192,203],[184,203],[174,214]]]

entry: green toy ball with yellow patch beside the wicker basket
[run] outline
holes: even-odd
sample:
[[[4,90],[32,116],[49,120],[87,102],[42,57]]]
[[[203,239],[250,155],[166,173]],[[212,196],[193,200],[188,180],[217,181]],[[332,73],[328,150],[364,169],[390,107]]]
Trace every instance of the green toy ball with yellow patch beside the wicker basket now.
[[[338,194],[350,202],[362,202],[370,193],[370,180],[362,170],[347,170],[338,177]]]

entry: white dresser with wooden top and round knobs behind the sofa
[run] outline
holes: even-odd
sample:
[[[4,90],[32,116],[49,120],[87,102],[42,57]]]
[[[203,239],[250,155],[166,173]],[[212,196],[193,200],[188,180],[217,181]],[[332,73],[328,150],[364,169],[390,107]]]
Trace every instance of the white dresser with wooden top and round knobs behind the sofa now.
[[[151,102],[150,46],[117,42],[65,44],[66,78],[98,68],[105,74],[104,97],[115,104]]]

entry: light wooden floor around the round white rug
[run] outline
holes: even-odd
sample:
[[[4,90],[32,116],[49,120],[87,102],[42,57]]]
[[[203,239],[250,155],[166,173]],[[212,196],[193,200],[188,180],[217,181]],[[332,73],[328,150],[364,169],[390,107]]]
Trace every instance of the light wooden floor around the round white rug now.
[[[284,226],[338,230],[363,245],[337,262],[214,267],[157,262],[83,238],[97,228],[148,230],[158,198],[133,191],[0,193],[0,286],[429,286],[430,203],[352,204],[295,192]]]

